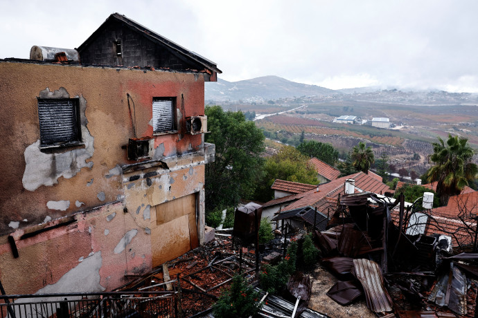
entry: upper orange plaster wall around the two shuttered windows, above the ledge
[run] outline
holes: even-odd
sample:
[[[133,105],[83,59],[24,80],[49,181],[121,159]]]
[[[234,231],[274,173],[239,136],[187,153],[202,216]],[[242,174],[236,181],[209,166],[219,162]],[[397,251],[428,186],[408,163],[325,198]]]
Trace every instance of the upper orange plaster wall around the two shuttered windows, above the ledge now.
[[[0,109],[4,135],[0,209],[9,211],[0,216],[3,234],[11,232],[11,222],[19,222],[19,227],[35,225],[46,215],[54,219],[123,197],[118,167],[133,163],[125,151],[128,138],[134,137],[127,93],[134,102],[138,137],[152,135],[153,97],[176,97],[181,119],[204,114],[204,79],[196,79],[193,73],[0,60],[0,86],[0,102],[15,105]],[[46,95],[80,97],[84,147],[39,151],[36,97]],[[201,151],[202,137],[158,135],[154,147],[154,159],[161,160]],[[52,210],[49,201],[69,201],[70,205],[66,210]]]

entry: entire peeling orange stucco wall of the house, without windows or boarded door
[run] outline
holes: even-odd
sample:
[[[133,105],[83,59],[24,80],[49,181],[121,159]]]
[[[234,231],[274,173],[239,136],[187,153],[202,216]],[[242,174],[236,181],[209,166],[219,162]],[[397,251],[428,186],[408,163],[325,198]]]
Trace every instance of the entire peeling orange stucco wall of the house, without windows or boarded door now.
[[[130,279],[125,275],[148,272],[155,206],[188,194],[198,198],[202,241],[207,162],[202,135],[154,136],[153,158],[145,161],[162,160],[168,168],[123,173],[125,166],[138,163],[127,160],[125,150],[134,136],[127,93],[136,106],[136,132],[141,138],[152,135],[148,123],[153,97],[184,102],[184,108],[177,105],[179,120],[203,115],[202,81],[192,73],[0,60],[0,103],[19,105],[0,108],[3,149],[8,149],[1,167],[5,187],[0,191],[0,210],[9,212],[0,215],[0,279],[8,293],[76,283],[89,291],[112,290]],[[79,98],[84,145],[39,148],[37,97]],[[73,223],[53,227],[66,218]],[[36,230],[44,232],[21,238]],[[17,259],[8,244],[11,232]],[[75,281],[73,276],[86,272],[91,277]]]

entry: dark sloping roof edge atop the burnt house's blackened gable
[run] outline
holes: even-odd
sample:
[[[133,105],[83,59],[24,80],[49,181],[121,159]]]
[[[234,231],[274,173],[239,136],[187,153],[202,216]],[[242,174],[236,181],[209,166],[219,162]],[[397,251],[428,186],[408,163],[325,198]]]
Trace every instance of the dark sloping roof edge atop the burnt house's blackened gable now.
[[[123,23],[123,26],[126,26],[127,28],[138,32],[139,34],[143,35],[143,37],[146,37],[155,43],[167,46],[172,51],[179,53],[180,55],[184,55],[184,57],[187,57],[188,59],[192,59],[193,61],[201,64],[202,66],[204,66],[204,68],[208,69],[211,72],[222,73],[218,66],[216,66],[215,62],[212,62],[209,59],[206,59],[206,57],[202,57],[201,55],[194,53],[193,51],[188,50],[187,48],[184,48],[179,44],[176,44],[170,39],[166,39],[166,37],[157,34],[156,32],[146,28],[145,26],[141,26],[141,24],[137,23],[136,21],[133,21],[132,19],[129,19],[124,15],[120,15],[119,13],[113,13],[112,15],[110,15],[105,20],[105,22],[103,22],[103,24],[101,24],[101,26],[88,37],[85,42],[78,46],[78,52],[81,53],[84,48],[86,48],[92,41],[94,41],[94,39],[96,39],[96,37],[98,37],[98,35],[100,35],[100,33],[103,31],[103,28],[106,28],[106,26],[112,21],[120,21],[121,23]]]

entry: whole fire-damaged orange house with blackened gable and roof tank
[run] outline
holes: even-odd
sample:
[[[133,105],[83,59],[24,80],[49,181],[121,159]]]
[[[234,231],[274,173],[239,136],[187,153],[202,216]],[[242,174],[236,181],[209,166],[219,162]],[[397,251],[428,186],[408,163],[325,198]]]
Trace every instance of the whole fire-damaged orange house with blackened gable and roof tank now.
[[[0,60],[8,294],[112,290],[204,243],[217,73],[117,13],[76,50]]]

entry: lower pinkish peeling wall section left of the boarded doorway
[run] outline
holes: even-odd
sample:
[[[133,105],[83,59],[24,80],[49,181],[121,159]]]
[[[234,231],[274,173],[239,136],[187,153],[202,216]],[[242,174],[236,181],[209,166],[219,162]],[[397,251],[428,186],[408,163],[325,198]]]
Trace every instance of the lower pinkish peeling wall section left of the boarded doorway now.
[[[76,214],[75,223],[30,238],[22,239],[24,230],[19,229],[13,234],[19,250],[17,259],[3,236],[0,279],[6,291],[33,293],[46,286],[61,287],[57,291],[62,292],[112,290],[126,282],[125,274],[150,270],[149,236],[139,231],[123,207],[123,203],[114,203]],[[57,221],[51,221],[49,226],[55,224]],[[91,277],[76,279],[85,272]]]

